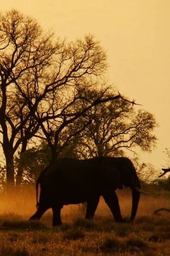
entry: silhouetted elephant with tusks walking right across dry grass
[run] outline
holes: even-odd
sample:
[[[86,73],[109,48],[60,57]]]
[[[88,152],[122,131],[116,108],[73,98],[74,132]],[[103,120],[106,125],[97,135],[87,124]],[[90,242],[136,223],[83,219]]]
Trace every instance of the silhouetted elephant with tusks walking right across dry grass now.
[[[38,186],[40,197],[38,202]],[[64,205],[87,203],[85,218],[92,219],[100,196],[108,204],[116,222],[123,222],[115,190],[130,187],[132,209],[130,222],[136,216],[140,188],[134,164],[127,157],[94,157],[91,159],[57,159],[47,166],[36,181],[37,211],[29,220],[40,220],[52,208],[53,226],[62,224]]]

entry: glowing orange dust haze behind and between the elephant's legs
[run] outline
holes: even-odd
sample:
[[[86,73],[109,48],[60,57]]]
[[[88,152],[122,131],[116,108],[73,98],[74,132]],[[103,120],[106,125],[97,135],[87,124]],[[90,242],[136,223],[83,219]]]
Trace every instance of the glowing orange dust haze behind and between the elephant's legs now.
[[[129,218],[131,212],[131,190],[124,188],[123,190],[116,190],[119,205],[122,212],[122,217]],[[36,211],[36,197],[35,188],[31,187],[27,190],[18,191],[11,193],[10,195],[1,193],[0,194],[0,219],[1,222],[5,220],[19,221],[28,220]],[[141,195],[140,202],[138,205],[136,218],[141,216],[152,216],[155,209],[164,207],[169,208],[170,199],[165,194],[156,194],[152,192],[149,196]],[[76,218],[84,217],[85,207],[83,205],[65,205],[61,210],[61,219],[64,223],[72,223]],[[163,216],[168,213],[162,214]],[[100,202],[95,212],[95,218],[100,218],[103,221],[106,218],[113,219],[111,211],[108,205],[105,204],[103,197],[100,197]],[[52,210],[49,209],[42,216],[41,222],[52,225]]]

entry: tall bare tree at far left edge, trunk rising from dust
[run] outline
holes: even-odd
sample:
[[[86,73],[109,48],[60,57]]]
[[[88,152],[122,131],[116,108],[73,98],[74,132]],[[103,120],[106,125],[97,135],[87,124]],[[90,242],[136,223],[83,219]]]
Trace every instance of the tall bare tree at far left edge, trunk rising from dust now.
[[[42,33],[34,19],[16,10],[0,15],[0,132],[9,188],[15,182],[14,154],[20,145],[24,151],[29,139],[39,130],[39,124],[33,121],[35,108],[28,109],[17,83],[51,64],[59,48],[59,42],[53,44],[52,38],[53,34]],[[34,97],[32,88],[28,92],[24,84],[21,87],[23,94]]]

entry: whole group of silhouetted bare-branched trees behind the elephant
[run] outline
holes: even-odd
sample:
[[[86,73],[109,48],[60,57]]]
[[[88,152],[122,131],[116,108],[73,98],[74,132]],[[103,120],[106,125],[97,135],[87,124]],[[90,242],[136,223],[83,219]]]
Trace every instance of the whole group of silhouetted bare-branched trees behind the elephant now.
[[[151,151],[154,116],[104,82],[106,54],[93,36],[72,42],[17,10],[0,14],[0,177],[33,182],[57,157]]]

